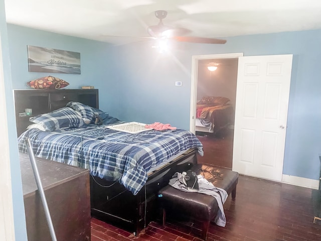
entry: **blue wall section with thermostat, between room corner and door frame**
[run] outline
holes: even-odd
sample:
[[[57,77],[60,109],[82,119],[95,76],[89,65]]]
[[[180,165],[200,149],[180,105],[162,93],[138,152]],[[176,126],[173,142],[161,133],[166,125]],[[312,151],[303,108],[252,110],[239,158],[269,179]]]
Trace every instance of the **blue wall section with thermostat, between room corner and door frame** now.
[[[119,48],[126,71],[119,79],[121,86],[120,119],[142,123],[170,123],[189,130],[191,53],[176,51],[159,54],[151,42]],[[184,47],[184,46],[181,46]],[[175,86],[182,81],[182,86]]]

